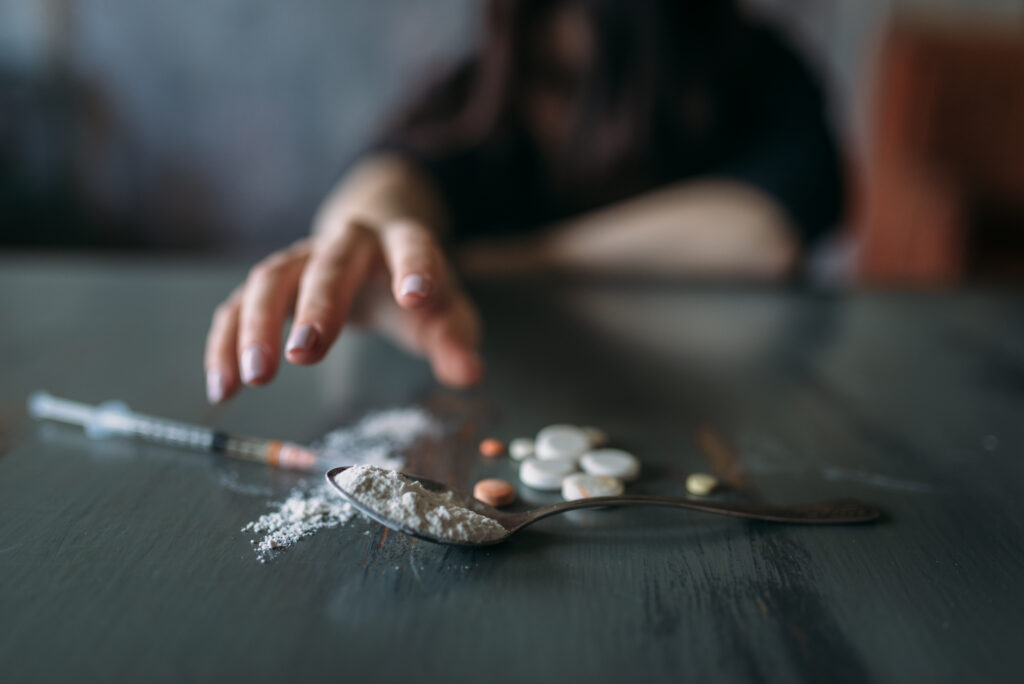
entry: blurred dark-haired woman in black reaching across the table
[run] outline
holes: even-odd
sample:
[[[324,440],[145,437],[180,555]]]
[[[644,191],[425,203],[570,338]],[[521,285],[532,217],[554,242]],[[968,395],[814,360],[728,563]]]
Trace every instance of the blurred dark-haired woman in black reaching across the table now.
[[[217,309],[211,401],[318,361],[356,320],[480,379],[455,276],[779,279],[839,217],[819,88],[725,0],[492,0],[478,49],[385,128]],[[442,249],[442,245],[451,248]]]

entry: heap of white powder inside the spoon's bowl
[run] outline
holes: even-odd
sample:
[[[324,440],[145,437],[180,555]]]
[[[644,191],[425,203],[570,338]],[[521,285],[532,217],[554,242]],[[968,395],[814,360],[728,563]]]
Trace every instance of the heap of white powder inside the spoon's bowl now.
[[[334,481],[382,518],[429,537],[477,544],[508,533],[496,520],[460,505],[453,493],[430,491],[393,470],[354,466],[335,475]]]

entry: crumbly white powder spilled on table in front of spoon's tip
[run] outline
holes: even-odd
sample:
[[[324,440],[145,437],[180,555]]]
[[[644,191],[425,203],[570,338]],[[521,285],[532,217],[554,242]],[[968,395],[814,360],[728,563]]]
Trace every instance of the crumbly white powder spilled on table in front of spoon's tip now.
[[[265,563],[273,552],[287,549],[317,530],[344,524],[354,515],[351,504],[345,503],[330,485],[323,484],[310,491],[294,490],[276,510],[261,515],[242,531],[263,536],[258,542],[253,540],[253,549],[260,562]]]

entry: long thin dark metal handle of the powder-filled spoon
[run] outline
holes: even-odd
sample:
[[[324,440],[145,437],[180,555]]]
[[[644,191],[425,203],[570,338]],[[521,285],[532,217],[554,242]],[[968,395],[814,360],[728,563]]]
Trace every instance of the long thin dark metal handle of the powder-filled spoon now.
[[[757,504],[733,504],[717,501],[694,501],[678,497],[654,497],[645,495],[623,495],[620,497],[593,497],[554,504],[530,511],[528,518],[519,526],[537,522],[542,518],[581,508],[605,506],[669,506],[687,508],[705,513],[719,513],[738,518],[768,520],[771,522],[796,522],[803,524],[839,524],[869,522],[881,515],[881,511],[855,499],[837,499],[796,506],[761,506]]]

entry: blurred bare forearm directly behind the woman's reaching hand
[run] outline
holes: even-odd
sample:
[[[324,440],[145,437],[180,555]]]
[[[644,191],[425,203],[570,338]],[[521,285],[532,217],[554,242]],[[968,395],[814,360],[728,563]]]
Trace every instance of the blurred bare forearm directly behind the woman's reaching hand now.
[[[322,203],[313,232],[350,220],[384,225],[415,219],[440,234],[446,225],[443,206],[430,178],[392,155],[368,157],[352,167]]]

